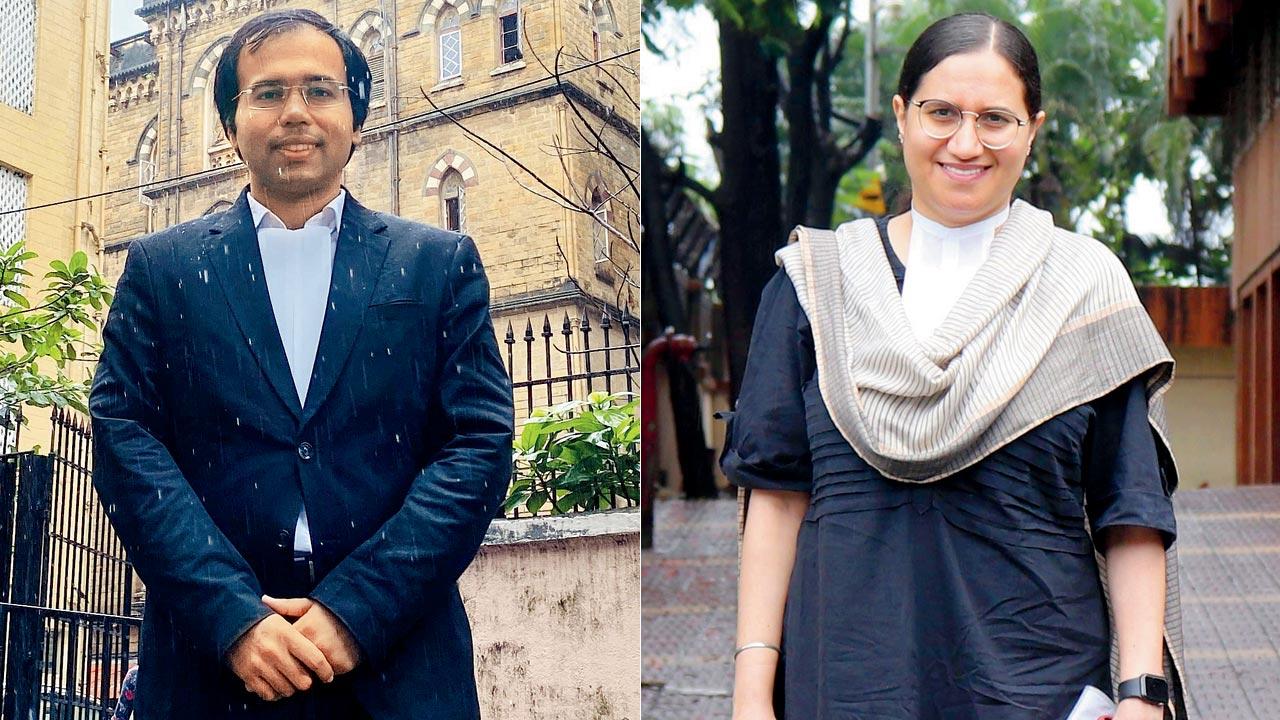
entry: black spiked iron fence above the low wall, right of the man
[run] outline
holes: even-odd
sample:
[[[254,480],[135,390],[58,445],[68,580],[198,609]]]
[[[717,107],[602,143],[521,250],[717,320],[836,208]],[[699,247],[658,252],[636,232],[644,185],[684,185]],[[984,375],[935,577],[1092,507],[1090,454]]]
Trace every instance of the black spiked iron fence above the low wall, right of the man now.
[[[599,318],[593,327],[593,318]],[[541,327],[535,329],[535,319],[525,320],[525,329],[517,337],[515,325],[508,322],[506,337],[507,373],[512,379],[512,392],[516,400],[516,433],[520,434],[529,413],[538,407],[549,407],[571,400],[586,398],[590,393],[626,392],[637,397],[640,392],[640,350],[639,328],[635,318],[616,313],[584,311],[576,320],[563,313],[558,323],[544,314]],[[553,329],[554,328],[554,329]],[[595,337],[593,337],[595,336]],[[594,345],[594,347],[593,347]],[[639,465],[636,466],[639,471]],[[614,471],[605,468],[604,471]],[[521,503],[504,514],[508,518],[548,515],[557,510],[584,511],[605,507],[634,507],[639,505],[639,478],[635,495],[622,488],[609,488],[603,495],[580,493],[571,496],[566,489],[568,473],[532,474],[521,462],[512,460],[512,483],[527,483],[527,493],[541,493],[545,502]],[[581,483],[577,483],[579,486]],[[568,497],[570,502],[563,500]],[[556,507],[557,498],[562,500]],[[573,498],[580,501],[573,502]],[[603,502],[600,501],[603,498]]]

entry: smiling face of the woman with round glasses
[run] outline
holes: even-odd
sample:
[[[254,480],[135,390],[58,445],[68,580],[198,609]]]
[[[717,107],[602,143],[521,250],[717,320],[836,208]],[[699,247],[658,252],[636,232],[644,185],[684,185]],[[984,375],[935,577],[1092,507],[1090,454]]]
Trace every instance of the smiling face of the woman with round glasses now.
[[[937,140],[920,128],[920,108],[911,104],[946,100],[964,110],[960,129]],[[911,205],[945,225],[965,225],[1009,205],[1023,174],[1036,132],[1044,122],[1037,113],[1018,128],[1014,141],[991,150],[978,140],[972,114],[1005,110],[1028,119],[1025,88],[1014,67],[995,50],[951,55],[920,77],[913,97],[893,96],[893,114],[902,135],[902,159],[911,177]]]

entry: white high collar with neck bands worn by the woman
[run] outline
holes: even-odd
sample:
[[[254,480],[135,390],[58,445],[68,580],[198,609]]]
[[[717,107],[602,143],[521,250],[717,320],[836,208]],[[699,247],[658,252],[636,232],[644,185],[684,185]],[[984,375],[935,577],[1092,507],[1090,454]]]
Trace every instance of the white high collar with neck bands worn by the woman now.
[[[987,260],[996,229],[1009,208],[970,225],[948,228],[911,208],[911,245],[906,250],[902,307],[911,331],[925,341],[942,324],[965,286]]]

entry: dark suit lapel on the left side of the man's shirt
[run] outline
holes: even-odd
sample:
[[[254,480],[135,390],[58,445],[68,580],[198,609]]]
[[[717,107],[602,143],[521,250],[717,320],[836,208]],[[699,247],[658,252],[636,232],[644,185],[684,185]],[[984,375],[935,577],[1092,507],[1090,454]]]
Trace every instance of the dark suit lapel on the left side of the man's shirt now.
[[[280,331],[275,325],[247,193],[248,190],[241,192],[236,204],[209,227],[206,256],[262,374],[289,413],[300,418],[302,407],[289,374]]]

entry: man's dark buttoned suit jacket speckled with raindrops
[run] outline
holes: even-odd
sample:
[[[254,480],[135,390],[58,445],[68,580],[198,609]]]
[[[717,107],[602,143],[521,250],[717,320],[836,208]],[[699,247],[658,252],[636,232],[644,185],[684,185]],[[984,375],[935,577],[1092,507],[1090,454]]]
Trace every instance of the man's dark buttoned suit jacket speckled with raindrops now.
[[[133,243],[104,338],[93,480],[147,585],[138,717],[273,716],[224,656],[289,594],[303,498],[365,708],[477,716],[456,580],[507,488],[512,398],[472,241],[348,196],[305,406],[244,193]]]

